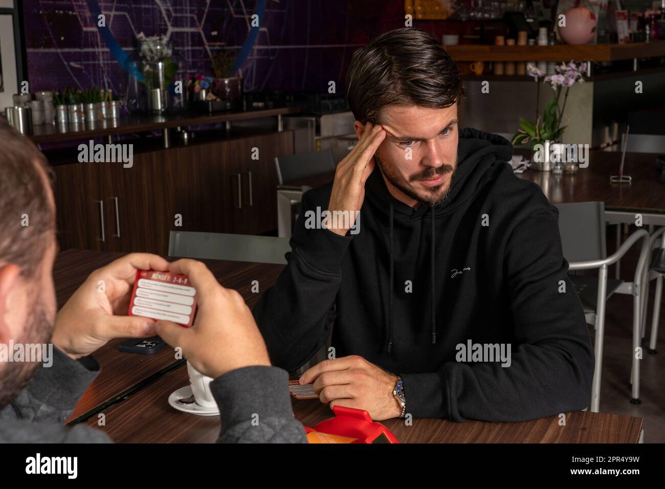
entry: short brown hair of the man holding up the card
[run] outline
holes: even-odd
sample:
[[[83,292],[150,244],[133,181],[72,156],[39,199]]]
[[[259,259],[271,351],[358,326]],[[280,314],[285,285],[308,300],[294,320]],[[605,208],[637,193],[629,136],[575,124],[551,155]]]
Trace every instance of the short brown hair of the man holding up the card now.
[[[37,146],[0,116],[0,265],[33,278],[55,232],[47,162]],[[28,226],[23,226],[27,214]]]

